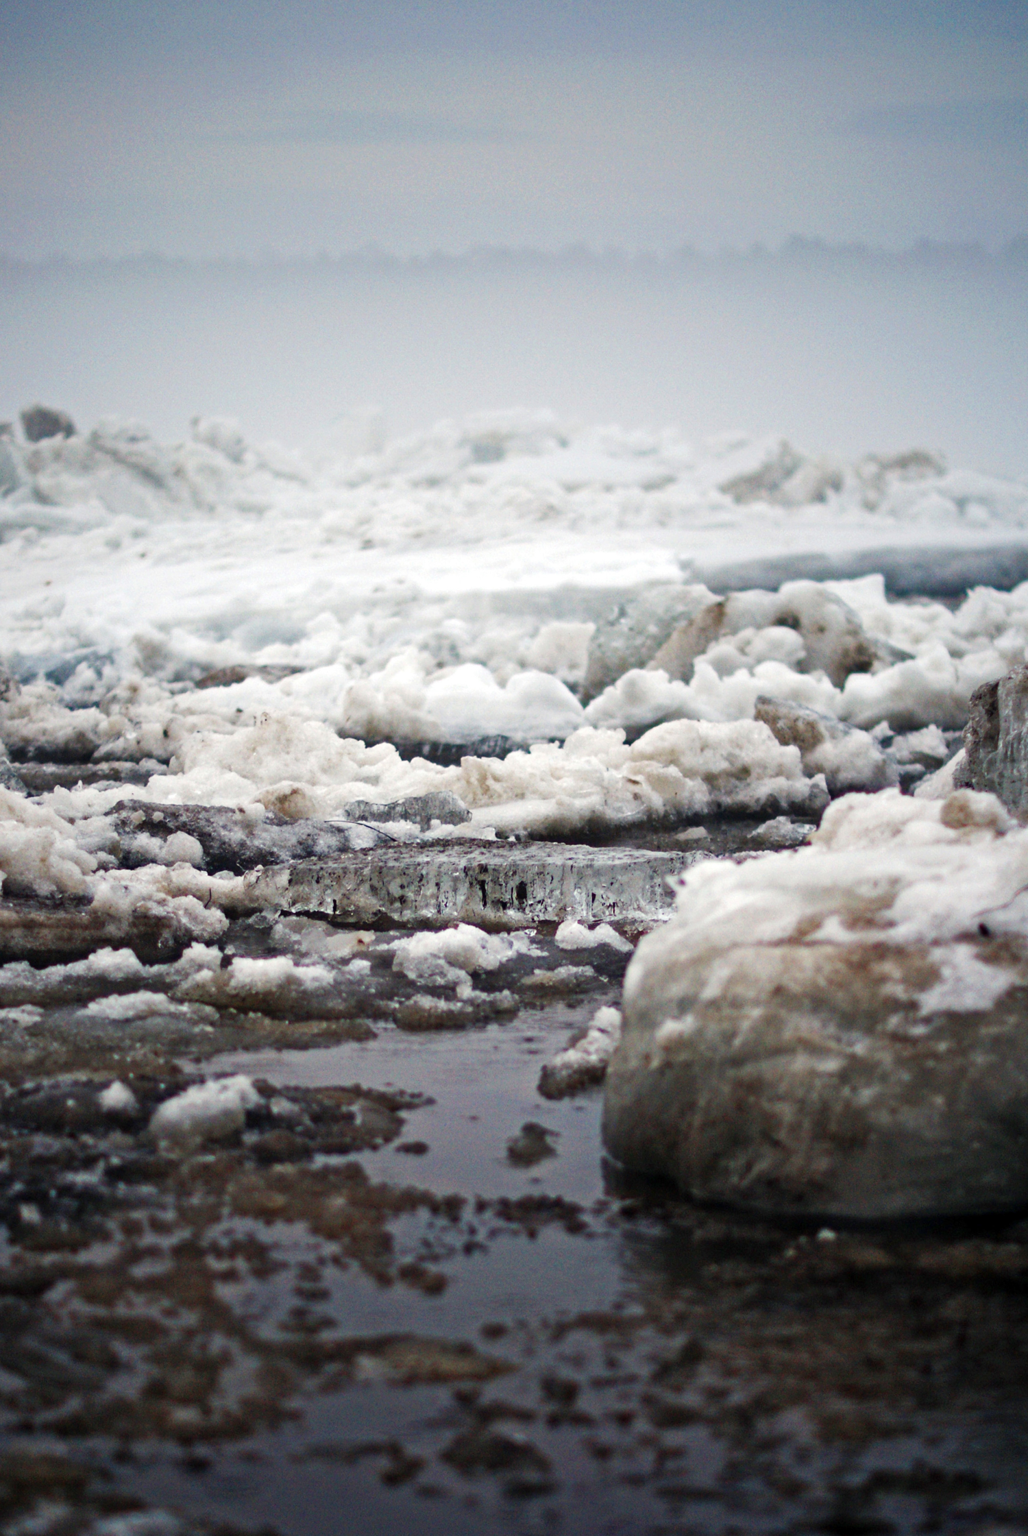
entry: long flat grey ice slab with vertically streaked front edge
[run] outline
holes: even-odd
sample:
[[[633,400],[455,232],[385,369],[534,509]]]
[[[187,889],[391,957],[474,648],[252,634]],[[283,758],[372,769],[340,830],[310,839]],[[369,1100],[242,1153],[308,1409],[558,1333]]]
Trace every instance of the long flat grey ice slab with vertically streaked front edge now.
[[[670,915],[668,880],[698,854],[567,843],[496,848],[373,848],[304,859],[246,876],[247,897],[284,912],[317,912],[366,926],[489,929],[538,923],[648,925]]]

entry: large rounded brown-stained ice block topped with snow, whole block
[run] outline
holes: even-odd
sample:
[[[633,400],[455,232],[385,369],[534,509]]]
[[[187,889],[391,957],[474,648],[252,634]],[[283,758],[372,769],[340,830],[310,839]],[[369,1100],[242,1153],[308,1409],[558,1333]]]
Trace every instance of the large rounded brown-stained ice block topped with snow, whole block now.
[[[885,790],[811,842],[684,877],[625,977],[607,1149],[764,1212],[1028,1206],[1028,831]]]

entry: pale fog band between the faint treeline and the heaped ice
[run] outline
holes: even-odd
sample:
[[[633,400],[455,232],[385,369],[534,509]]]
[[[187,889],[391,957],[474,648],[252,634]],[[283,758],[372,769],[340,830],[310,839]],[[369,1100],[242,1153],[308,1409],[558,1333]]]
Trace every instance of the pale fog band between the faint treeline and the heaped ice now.
[[[378,407],[396,435],[504,406],[807,452],[910,444],[1028,475],[1028,249],[793,241],[667,260],[479,252],[286,263],[0,263],[0,418],[34,399],[237,416],[304,444]],[[360,430],[355,435],[358,445]]]

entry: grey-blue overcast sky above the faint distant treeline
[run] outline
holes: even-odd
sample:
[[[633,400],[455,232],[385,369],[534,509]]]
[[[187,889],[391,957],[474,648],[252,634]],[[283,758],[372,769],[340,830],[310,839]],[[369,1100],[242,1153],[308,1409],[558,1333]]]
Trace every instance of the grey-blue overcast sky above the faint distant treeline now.
[[[1023,0],[0,0],[0,252],[1028,233]]]

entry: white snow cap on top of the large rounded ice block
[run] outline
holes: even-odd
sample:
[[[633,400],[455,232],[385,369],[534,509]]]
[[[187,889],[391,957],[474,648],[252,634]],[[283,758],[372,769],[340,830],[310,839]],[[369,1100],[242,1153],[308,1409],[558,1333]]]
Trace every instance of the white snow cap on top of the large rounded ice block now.
[[[1028,829],[1017,829],[994,796],[845,796],[807,848],[745,863],[704,860],[681,877],[676,915],[642,940],[628,966],[625,1017],[661,1012],[662,998],[701,969],[704,1005],[728,1000],[741,966],[756,995],[787,952],[802,955],[813,992],[819,968],[828,975],[841,949],[862,946],[868,954],[893,946],[920,962],[891,977],[890,1011],[902,1012],[905,1001],[922,1014],[988,1009],[1023,985],[1023,952],[997,946],[1002,935],[1028,937]],[[721,963],[722,954],[736,958]],[[668,1012],[658,1049],[693,1028],[688,1008]]]

